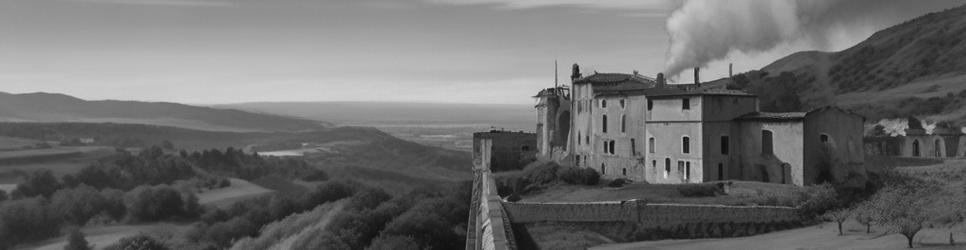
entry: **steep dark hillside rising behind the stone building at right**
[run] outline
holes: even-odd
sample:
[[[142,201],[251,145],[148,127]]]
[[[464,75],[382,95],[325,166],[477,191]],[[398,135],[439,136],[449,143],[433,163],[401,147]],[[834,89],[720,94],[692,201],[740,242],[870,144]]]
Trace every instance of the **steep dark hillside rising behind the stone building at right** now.
[[[920,116],[966,124],[966,6],[876,32],[839,52],[806,51],[736,75],[762,109],[853,109],[870,122]]]

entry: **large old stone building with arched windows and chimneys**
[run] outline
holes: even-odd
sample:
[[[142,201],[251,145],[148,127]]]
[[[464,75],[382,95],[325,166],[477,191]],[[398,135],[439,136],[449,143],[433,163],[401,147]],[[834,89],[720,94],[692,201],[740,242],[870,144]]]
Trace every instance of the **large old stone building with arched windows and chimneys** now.
[[[576,65],[571,79],[569,96],[549,94],[564,88],[536,96],[544,159],[649,183],[805,185],[864,174],[864,118],[839,108],[760,112],[756,96],[722,86],[637,72],[583,76]]]

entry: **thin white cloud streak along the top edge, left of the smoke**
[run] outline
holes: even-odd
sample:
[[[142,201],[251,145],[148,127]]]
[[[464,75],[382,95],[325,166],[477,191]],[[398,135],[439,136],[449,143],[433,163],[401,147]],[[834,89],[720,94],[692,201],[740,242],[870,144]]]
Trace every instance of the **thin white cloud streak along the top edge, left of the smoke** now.
[[[597,9],[667,9],[668,0],[426,0],[455,5],[494,5],[510,9],[576,6]]]

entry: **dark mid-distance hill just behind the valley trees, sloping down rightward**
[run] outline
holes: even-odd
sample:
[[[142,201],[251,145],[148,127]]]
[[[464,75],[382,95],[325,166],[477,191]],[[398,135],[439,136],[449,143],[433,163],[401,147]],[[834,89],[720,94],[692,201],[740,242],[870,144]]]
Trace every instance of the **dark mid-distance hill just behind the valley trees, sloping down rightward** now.
[[[399,179],[389,173],[408,176],[407,180],[465,180],[471,177],[472,169],[468,152],[425,146],[362,127],[269,133],[201,131],[140,124],[0,123],[0,138],[8,137],[44,141],[89,137],[95,139],[95,145],[112,147],[146,147],[170,141],[176,148],[189,151],[227,147],[272,151],[322,144],[327,145],[326,151],[307,154],[306,159],[339,175],[369,176],[379,180]]]

